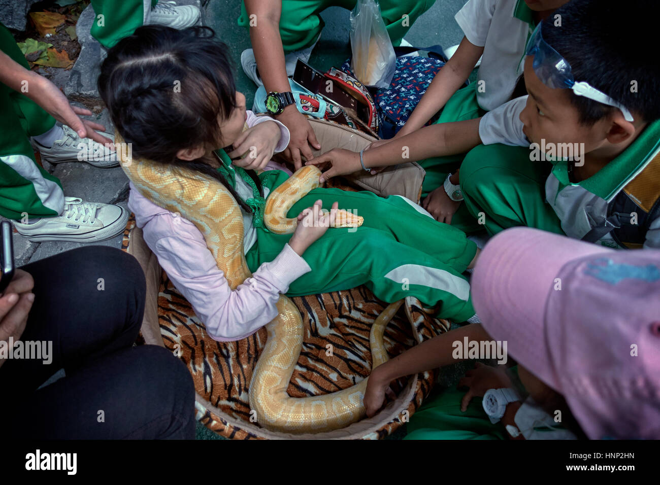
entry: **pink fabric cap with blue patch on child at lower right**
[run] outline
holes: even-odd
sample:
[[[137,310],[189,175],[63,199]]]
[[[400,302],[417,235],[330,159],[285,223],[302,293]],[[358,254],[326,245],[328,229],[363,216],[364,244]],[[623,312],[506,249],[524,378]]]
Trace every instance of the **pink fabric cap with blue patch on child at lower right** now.
[[[588,437],[660,438],[660,251],[513,228],[488,242],[471,286],[484,329]]]

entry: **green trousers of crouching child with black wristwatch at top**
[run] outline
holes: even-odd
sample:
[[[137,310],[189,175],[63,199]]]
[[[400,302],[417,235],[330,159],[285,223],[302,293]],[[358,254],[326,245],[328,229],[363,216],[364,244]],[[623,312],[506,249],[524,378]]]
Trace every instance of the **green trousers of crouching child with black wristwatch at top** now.
[[[380,12],[387,33],[395,46],[408,32],[414,21],[426,12],[436,0],[380,0]],[[319,16],[327,7],[354,9],[356,0],[282,0],[280,16],[280,36],[284,53],[303,49],[314,44],[323,30],[323,19]],[[405,19],[404,15],[408,18]],[[405,25],[404,25],[405,23]],[[249,27],[245,4],[241,5],[238,25]]]

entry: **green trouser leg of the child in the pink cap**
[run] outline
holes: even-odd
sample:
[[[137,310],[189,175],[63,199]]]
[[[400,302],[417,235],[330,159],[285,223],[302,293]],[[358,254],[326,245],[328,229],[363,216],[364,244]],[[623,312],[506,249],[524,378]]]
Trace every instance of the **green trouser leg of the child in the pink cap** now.
[[[411,416],[403,439],[506,439],[501,423],[492,424],[480,397],[473,397],[465,412],[461,399],[465,391],[447,389]]]

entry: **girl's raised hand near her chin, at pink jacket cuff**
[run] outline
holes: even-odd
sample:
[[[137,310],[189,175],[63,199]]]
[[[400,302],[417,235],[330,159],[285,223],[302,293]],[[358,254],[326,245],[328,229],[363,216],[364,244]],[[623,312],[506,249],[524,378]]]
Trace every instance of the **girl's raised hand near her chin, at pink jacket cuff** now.
[[[234,150],[227,155],[229,158],[237,158],[232,163],[246,170],[262,170],[273,158],[275,147],[281,137],[280,127],[275,122],[261,121],[258,125],[241,133],[234,142]]]

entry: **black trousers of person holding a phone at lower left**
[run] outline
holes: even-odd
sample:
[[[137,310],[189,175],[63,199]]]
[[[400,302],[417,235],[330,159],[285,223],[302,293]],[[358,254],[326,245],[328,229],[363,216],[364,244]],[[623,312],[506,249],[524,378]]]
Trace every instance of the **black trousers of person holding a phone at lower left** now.
[[[35,298],[20,340],[52,341],[52,363],[5,360],[3,430],[24,439],[195,437],[185,365],[165,348],[133,346],[145,301],[135,258],[87,246],[22,269],[34,278]],[[38,389],[61,368],[65,377]]]

